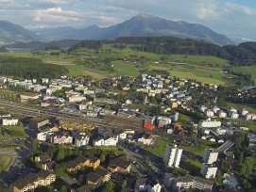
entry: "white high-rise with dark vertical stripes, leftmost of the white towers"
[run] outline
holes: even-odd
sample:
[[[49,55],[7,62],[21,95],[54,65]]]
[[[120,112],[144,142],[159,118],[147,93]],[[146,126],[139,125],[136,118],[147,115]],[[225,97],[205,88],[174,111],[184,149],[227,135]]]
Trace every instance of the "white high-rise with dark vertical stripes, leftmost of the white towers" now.
[[[163,162],[168,166],[168,167],[175,167],[179,168],[179,162],[181,160],[181,155],[182,155],[182,149],[179,149],[177,145],[170,146],[166,145],[166,150],[165,154],[163,157]]]

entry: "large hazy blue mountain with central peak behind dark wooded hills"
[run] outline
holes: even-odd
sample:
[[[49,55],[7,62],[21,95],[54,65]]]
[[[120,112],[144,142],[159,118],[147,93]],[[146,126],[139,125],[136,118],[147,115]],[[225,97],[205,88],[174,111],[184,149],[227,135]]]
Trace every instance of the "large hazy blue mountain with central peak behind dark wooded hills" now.
[[[83,29],[68,28],[34,30],[45,39],[53,40],[115,40],[119,37],[159,37],[174,36],[206,40],[219,45],[232,44],[226,36],[215,33],[212,29],[201,24],[189,24],[186,22],[173,22],[152,15],[138,14],[128,21],[109,27],[88,26]],[[52,31],[52,32],[50,32]]]

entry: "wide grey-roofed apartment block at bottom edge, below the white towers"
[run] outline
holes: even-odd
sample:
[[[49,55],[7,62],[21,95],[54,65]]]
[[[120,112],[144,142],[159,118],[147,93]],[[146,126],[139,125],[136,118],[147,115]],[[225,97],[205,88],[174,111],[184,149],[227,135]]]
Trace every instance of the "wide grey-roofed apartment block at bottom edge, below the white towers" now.
[[[184,177],[178,177],[174,180],[172,189],[173,191],[181,191],[182,189],[197,189],[203,192],[211,192],[213,188],[213,182],[194,177],[191,175],[185,175]]]

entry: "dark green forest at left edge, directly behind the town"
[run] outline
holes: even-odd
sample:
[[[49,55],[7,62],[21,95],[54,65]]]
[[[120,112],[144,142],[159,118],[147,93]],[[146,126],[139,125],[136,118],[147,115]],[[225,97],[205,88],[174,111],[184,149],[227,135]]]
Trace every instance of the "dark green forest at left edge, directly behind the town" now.
[[[26,57],[0,57],[0,74],[27,79],[56,78],[68,70],[60,65],[44,64],[42,60]]]

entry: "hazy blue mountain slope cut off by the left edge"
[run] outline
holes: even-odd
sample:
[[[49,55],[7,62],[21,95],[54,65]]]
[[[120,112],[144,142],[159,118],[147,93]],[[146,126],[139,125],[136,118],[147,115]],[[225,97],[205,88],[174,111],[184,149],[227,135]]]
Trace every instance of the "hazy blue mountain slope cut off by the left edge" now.
[[[0,44],[9,44],[17,41],[28,42],[32,40],[43,39],[20,25],[0,21]]]

